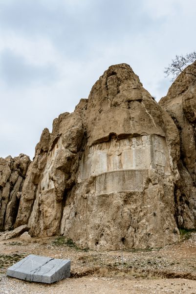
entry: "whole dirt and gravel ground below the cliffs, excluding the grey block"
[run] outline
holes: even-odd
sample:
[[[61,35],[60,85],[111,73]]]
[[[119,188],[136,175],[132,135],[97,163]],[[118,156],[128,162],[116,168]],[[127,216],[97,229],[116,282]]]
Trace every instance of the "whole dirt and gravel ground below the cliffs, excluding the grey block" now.
[[[5,275],[28,254],[71,260],[71,277],[47,285]],[[64,238],[0,241],[0,294],[196,294],[196,233],[148,250],[82,250]]]

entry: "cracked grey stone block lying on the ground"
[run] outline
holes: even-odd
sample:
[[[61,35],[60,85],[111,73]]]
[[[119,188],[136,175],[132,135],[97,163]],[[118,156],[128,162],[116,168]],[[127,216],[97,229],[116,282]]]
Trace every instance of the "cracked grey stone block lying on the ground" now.
[[[30,254],[7,269],[8,276],[40,283],[54,283],[70,277],[69,259]]]

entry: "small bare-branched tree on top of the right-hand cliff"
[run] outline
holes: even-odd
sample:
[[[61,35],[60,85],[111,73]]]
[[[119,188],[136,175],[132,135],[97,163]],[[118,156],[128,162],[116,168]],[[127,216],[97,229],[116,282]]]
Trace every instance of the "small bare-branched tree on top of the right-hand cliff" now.
[[[196,61],[196,51],[192,53],[187,53],[185,56],[183,55],[175,55],[175,59],[172,60],[172,63],[169,64],[167,68],[165,68],[164,73],[166,77],[170,74],[173,75],[172,81],[178,76],[179,73],[191,74],[196,77],[196,73],[192,73],[189,70],[185,70],[189,64],[194,63]],[[196,67],[196,63],[194,64]]]

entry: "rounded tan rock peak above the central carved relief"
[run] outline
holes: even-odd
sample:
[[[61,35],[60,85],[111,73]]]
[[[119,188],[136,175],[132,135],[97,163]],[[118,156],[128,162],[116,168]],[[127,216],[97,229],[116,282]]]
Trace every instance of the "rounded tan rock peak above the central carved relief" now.
[[[127,64],[110,66],[95,83],[87,103],[88,145],[141,134],[164,136],[162,109]]]

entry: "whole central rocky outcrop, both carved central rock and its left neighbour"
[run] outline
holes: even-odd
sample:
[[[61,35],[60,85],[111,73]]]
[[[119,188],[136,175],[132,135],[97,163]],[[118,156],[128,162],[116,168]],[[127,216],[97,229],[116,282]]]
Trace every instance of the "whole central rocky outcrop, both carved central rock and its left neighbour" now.
[[[15,227],[98,249],[176,242],[179,156],[172,118],[130,66],[111,66],[74,113],[44,129]]]

